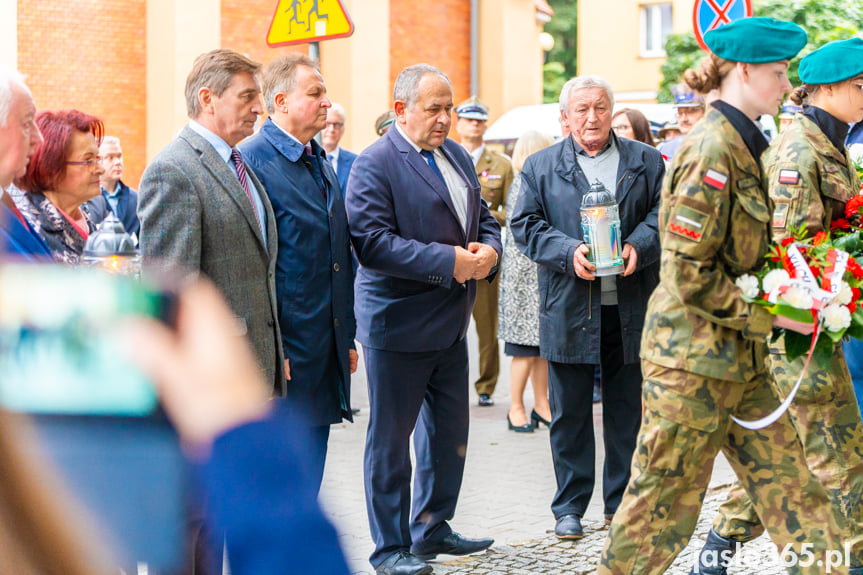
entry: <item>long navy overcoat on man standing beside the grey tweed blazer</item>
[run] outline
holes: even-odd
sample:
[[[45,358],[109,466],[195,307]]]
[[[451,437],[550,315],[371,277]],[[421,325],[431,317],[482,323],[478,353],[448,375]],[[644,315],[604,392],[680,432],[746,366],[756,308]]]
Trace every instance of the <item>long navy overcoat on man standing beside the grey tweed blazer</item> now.
[[[282,345],[291,362],[288,400],[301,398],[312,424],[326,425],[351,419],[353,262],[344,194],[323,148],[315,141],[311,145],[315,158],[305,156],[303,146],[268,118],[240,149],[276,216],[276,297]],[[312,162],[322,167],[325,182],[312,176],[306,166]]]

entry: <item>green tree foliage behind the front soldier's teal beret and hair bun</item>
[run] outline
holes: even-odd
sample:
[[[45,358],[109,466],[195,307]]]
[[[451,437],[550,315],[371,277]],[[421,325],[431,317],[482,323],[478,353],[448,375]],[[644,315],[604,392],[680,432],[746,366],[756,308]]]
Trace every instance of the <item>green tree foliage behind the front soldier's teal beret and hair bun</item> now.
[[[859,0],[754,0],[755,16],[769,16],[794,22],[809,34],[809,43],[791,62],[788,78],[800,84],[797,65],[800,57],[832,40],[843,40],[863,30],[863,2]],[[695,66],[704,57],[693,33],[671,34],[665,44],[668,58],[662,65],[662,82],[657,99],[671,102],[670,87],[680,82],[683,71]]]

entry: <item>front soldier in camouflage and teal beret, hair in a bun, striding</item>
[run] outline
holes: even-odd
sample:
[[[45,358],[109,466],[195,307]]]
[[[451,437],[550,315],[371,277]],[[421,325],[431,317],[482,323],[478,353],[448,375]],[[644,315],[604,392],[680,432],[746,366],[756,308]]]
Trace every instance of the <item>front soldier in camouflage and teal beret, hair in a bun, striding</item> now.
[[[645,414],[632,478],[614,515],[598,573],[664,573],[686,547],[721,449],[774,543],[823,557],[841,549],[841,515],[806,468],[787,416],[753,432],[778,396],[765,368],[774,322],[734,282],[763,264],[769,199],[758,161],[767,141],[753,120],[791,88],[788,60],[806,45],[797,25],[736,20],[705,34],[712,54],[687,84],[720,89],[666,175],[660,207],[660,285],[641,344]],[[811,326],[810,326],[811,329]],[[792,573],[822,568],[797,564]]]

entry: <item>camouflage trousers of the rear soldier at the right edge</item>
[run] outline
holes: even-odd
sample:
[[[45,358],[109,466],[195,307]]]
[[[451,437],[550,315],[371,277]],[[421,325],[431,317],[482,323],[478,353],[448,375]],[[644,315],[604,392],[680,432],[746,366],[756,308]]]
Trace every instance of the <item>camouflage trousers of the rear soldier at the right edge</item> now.
[[[776,391],[788,396],[803,370],[805,358],[791,363],[780,349],[771,349],[770,367]],[[829,370],[810,363],[788,408],[791,423],[803,442],[806,463],[846,519],[845,540],[852,556],[863,558],[863,421],[841,346],[836,346]],[[713,521],[719,535],[749,541],[764,527],[738,482]]]

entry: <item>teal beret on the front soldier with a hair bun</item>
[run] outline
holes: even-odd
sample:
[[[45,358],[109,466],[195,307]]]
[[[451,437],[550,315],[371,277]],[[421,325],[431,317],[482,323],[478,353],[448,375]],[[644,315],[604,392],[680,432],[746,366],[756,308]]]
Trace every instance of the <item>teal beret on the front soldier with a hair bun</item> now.
[[[790,60],[806,42],[803,28],[773,18],[741,18],[704,35],[704,43],[720,58],[748,64]]]

